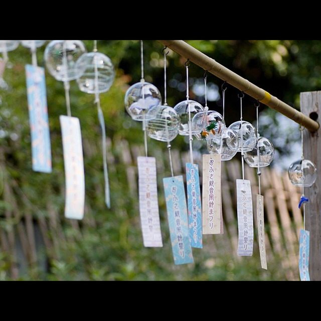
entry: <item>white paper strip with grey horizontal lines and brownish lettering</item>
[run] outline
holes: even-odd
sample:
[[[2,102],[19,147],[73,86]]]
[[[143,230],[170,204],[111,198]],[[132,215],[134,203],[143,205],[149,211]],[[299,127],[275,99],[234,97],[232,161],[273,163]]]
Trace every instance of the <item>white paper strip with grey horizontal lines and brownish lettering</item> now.
[[[162,247],[159,222],[155,157],[137,157],[139,214],[145,247]]]

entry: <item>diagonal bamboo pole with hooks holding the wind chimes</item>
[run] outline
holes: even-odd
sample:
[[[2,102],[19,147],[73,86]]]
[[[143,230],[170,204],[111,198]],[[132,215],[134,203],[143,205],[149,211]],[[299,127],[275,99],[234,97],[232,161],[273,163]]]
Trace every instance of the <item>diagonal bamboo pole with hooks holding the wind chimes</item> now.
[[[294,120],[298,124],[304,126],[309,131],[314,132],[319,128],[319,124],[316,121],[312,120],[308,116],[305,116],[304,114],[294,109],[293,107],[289,106],[288,104],[281,101],[280,99],[272,96],[270,93],[268,93],[264,89],[252,84],[247,79],[227,69],[223,65],[216,62],[214,59],[206,56],[199,50],[190,46],[185,41],[183,40],[157,40],[157,41],[164,44],[168,48],[172,49],[179,55],[185,57],[186,59],[189,59],[191,62],[203,68],[204,70],[207,70],[209,73],[226,81],[227,83],[238,88],[239,90],[244,91],[246,94],[253,97],[254,99],[259,100],[261,103],[265,104],[266,106],[272,109],[275,109],[276,111],[280,112],[286,117]]]

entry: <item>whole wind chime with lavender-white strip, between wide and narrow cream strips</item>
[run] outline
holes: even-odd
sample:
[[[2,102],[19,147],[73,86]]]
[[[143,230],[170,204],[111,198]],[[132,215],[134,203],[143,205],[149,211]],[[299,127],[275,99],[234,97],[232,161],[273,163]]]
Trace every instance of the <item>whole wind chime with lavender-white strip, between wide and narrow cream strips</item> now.
[[[242,179],[236,180],[237,193],[237,223],[238,223],[238,248],[239,256],[252,256],[253,254],[253,205],[251,183],[244,179],[244,151],[252,150],[256,144],[255,128],[246,121],[243,121],[242,99],[244,93],[238,94],[240,99],[240,121],[229,126],[239,138],[239,151],[242,157]]]

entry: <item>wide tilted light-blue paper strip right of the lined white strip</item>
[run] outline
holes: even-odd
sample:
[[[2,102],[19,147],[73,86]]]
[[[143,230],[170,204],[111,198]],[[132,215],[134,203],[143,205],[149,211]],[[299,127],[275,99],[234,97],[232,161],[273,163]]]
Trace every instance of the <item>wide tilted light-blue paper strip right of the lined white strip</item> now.
[[[163,179],[175,264],[193,263],[183,176]]]

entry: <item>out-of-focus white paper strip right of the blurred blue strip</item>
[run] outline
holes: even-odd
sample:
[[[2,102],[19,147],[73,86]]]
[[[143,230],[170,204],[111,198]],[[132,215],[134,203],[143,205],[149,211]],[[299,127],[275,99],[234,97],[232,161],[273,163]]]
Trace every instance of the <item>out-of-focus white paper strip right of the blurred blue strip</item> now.
[[[79,119],[60,117],[66,178],[65,217],[81,220],[85,205],[85,174]]]

